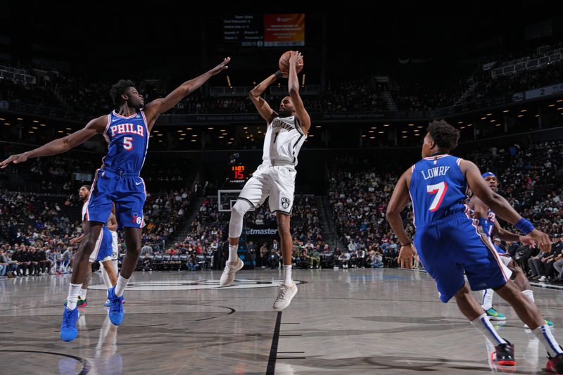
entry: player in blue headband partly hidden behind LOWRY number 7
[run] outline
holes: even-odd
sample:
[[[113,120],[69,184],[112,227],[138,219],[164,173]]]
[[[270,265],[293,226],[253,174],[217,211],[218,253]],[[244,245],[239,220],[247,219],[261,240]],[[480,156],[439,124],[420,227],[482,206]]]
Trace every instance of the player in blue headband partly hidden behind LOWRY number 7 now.
[[[491,188],[492,191],[497,191],[498,189],[498,179],[493,172],[485,172],[481,175],[483,179],[485,179],[488,186]],[[489,209],[488,206],[481,201],[478,196],[472,196],[470,208],[473,212],[473,218],[479,220],[479,226],[483,229],[483,234],[488,236],[489,239],[493,237],[493,234],[497,236],[499,239],[505,241],[513,241],[519,242],[523,245],[530,246],[531,248],[536,247],[536,243],[529,237],[529,236],[519,236],[518,234],[512,233],[511,231],[507,231],[500,227],[500,224],[496,220],[495,212]],[[534,302],[533,298],[533,291],[528,281],[528,278],[524,274],[524,271],[521,267],[514,262],[510,255],[508,255],[504,250],[495,246],[495,250],[500,255],[500,260],[512,271],[512,280],[520,291],[526,295],[532,302]],[[483,291],[482,299],[481,299],[481,307],[485,310],[489,319],[492,320],[506,320],[505,315],[500,314],[500,312],[496,311],[493,308],[493,289],[485,289]],[[545,320],[545,323],[553,326],[553,323]]]

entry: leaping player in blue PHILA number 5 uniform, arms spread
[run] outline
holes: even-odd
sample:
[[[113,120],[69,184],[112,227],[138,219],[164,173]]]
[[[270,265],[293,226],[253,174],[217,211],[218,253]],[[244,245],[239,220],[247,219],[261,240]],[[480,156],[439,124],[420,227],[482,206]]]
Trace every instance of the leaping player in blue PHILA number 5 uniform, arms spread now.
[[[146,106],[143,96],[133,87],[133,82],[120,80],[113,85],[110,91],[115,110],[109,115],[95,118],[88,122],[84,129],[55,139],[32,151],[11,155],[10,158],[0,163],[0,168],[5,168],[10,163],[23,163],[29,158],[64,153],[70,148],[83,144],[96,134],[102,134],[108,142],[108,154],[102,159],[102,165],[96,171],[91,186],[84,239],[80,243],[72,267],[68,305],[65,307],[61,323],[63,341],[72,341],[78,334],[76,328],[78,293],[86,268],[89,267],[89,256],[94,250],[94,244],[101,228],[108,220],[113,203],[115,203],[115,216],[118,224],[125,232],[127,253],[122,262],[117,285],[108,290],[110,300],[108,314],[113,324],[121,324],[123,291],[137,267],[137,260],[141,252],[141,228],[145,224],[143,205],[146,191],[139,172],[141,172],[145,160],[149,133],[160,113],[170,110],[213,75],[227,69],[229,61],[230,58],[225,58],[215,68],[184,82],[165,98],[158,98]]]

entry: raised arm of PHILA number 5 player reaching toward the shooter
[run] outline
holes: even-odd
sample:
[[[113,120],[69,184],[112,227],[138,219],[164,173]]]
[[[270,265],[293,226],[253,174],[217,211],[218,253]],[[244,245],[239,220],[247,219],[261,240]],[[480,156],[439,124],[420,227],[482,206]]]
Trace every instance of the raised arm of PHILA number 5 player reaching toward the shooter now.
[[[144,108],[146,120],[149,123],[148,130],[150,131],[152,129],[154,122],[160,113],[165,113],[170,108],[174,108],[179,101],[191,94],[194,90],[199,89],[211,77],[229,68],[227,66],[229,61],[231,61],[230,57],[225,58],[222,63],[217,65],[215,68],[208,70],[199,77],[192,78],[191,80],[179,85],[179,87],[165,96],[165,98],[155,99],[151,101],[151,103],[148,103]]]

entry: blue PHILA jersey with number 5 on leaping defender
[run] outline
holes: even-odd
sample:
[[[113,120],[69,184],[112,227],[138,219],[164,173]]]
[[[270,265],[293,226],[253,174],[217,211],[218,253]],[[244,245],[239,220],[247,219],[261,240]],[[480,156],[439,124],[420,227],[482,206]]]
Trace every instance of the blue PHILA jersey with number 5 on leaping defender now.
[[[108,125],[103,137],[108,142],[108,155],[104,167],[127,172],[140,172],[148,149],[148,124],[144,112],[124,117],[113,110],[108,115]]]

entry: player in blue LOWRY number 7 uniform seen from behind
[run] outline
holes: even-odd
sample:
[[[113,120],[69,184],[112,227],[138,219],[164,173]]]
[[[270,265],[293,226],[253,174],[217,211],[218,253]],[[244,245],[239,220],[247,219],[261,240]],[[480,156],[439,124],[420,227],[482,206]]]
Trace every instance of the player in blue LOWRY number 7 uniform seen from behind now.
[[[469,286],[474,291],[492,288],[514,307],[548,350],[548,370],[562,374],[562,348],[538,307],[514,283],[508,282],[510,270],[498,259],[491,240],[479,234],[469,215],[467,189],[497,215],[530,236],[542,251],[550,250],[551,241],[547,234],[521,217],[505,198],[489,188],[474,163],[448,155],[459,138],[457,129],[444,120],[431,122],[422,144],[422,160],[405,171],[395,186],[387,207],[387,220],[401,244],[398,262],[403,267],[412,267],[418,251],[422,265],[436,281],[440,300],[446,303],[455,298],[462,314],[494,343],[495,361],[513,366],[516,364],[514,346],[498,335],[469,290]],[[409,196],[416,227],[416,250],[400,217]]]

